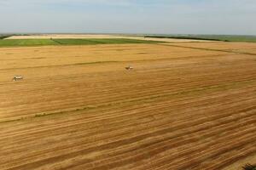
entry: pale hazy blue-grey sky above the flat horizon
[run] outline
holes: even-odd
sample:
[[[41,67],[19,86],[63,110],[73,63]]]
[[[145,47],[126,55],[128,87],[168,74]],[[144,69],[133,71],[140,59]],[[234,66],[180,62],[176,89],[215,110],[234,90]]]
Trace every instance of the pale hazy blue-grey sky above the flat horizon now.
[[[256,0],[0,0],[0,32],[256,35]]]

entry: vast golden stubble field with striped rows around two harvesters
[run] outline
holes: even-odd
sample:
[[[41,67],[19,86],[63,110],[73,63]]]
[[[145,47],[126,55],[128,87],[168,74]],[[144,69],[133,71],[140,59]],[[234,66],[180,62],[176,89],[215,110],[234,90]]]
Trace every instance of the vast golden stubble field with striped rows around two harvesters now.
[[[0,169],[256,163],[255,49],[226,42],[0,48]],[[24,80],[13,82],[15,75]]]

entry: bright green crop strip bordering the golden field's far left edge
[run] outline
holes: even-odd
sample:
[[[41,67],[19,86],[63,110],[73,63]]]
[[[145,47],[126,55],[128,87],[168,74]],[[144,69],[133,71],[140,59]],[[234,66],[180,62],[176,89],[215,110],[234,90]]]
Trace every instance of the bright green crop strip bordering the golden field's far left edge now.
[[[26,47],[44,45],[96,45],[96,44],[125,44],[125,43],[158,43],[156,41],[144,41],[122,38],[106,39],[1,39],[0,47]]]

